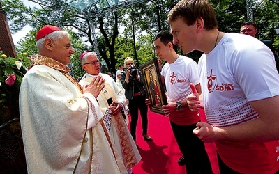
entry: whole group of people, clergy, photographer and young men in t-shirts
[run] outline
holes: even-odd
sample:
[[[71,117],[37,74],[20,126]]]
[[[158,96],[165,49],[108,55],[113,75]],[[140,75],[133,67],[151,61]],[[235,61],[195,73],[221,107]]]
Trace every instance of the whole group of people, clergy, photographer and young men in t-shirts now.
[[[139,115],[142,139],[153,141],[151,102],[169,117],[182,154],[177,162],[188,174],[212,173],[204,145],[212,142],[220,173],[279,173],[279,74],[272,45],[255,38],[253,22],[243,23],[240,33],[219,31],[206,0],[179,1],[167,22],[170,32],[153,38],[167,104],[146,97],[144,76],[131,57],[114,77],[100,72],[96,52],[86,51],[80,55],[85,74],[77,82],[67,67],[75,53],[68,32],[50,25],[37,32],[39,54],[30,56],[20,88],[29,173],[133,173],[141,160]],[[196,63],[174,45],[183,54],[204,54]],[[158,79],[151,71],[149,79],[156,96]]]

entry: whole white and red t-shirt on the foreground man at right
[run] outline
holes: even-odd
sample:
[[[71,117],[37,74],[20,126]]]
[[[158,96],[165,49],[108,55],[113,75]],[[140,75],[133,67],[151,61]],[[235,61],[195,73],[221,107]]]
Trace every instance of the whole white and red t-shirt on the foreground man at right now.
[[[199,59],[206,120],[215,127],[259,118],[248,101],[279,95],[279,74],[269,47],[249,35],[227,33]],[[216,141],[224,163],[240,173],[276,173],[279,141]]]

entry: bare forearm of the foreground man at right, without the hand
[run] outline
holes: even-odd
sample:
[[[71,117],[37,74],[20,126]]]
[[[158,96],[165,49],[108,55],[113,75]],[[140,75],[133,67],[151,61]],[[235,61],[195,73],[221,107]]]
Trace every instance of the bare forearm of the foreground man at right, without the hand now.
[[[279,95],[250,102],[259,118],[249,122],[216,128],[218,139],[264,142],[279,140]]]

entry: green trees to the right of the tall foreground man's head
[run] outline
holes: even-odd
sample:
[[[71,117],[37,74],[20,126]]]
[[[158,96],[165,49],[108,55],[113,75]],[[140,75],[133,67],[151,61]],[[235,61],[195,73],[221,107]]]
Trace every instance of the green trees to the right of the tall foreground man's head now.
[[[247,22],[246,1],[210,0],[210,3],[216,10],[219,30],[240,33],[241,24]],[[254,1],[253,18],[258,26],[256,37],[272,40],[278,54],[279,35],[275,33],[275,29],[279,22],[279,1]]]

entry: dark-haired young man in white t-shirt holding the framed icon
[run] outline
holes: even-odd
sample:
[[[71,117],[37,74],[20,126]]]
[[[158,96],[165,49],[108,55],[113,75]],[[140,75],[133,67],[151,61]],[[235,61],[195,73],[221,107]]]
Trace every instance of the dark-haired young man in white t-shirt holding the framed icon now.
[[[190,83],[200,91],[197,63],[186,56],[176,54],[172,44],[172,34],[160,31],[153,39],[155,52],[160,61],[166,61],[161,70],[167,89],[167,105],[163,105],[165,116],[169,116],[172,131],[183,157],[179,165],[185,164],[187,173],[212,173],[209,156],[204,142],[193,134],[199,112],[190,111],[187,96],[190,95]],[[149,100],[146,100],[148,103]]]

